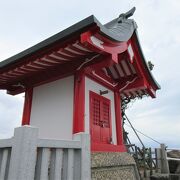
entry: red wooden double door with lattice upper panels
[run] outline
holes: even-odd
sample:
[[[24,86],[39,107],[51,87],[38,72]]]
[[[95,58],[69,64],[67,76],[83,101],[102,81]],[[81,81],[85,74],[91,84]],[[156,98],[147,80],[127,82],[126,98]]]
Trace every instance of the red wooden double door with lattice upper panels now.
[[[110,100],[90,91],[91,140],[96,143],[111,143]]]

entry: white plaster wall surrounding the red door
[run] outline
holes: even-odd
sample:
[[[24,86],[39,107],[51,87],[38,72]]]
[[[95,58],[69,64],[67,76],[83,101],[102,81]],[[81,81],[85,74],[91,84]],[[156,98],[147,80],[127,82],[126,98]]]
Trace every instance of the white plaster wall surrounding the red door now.
[[[89,133],[89,91],[93,91],[99,94],[99,91],[108,90],[109,93],[103,95],[104,97],[111,100],[111,119],[112,119],[112,139],[114,144],[117,144],[116,138],[116,121],[115,121],[115,108],[114,108],[114,92],[107,89],[106,87],[96,83],[95,81],[85,78],[85,132]]]

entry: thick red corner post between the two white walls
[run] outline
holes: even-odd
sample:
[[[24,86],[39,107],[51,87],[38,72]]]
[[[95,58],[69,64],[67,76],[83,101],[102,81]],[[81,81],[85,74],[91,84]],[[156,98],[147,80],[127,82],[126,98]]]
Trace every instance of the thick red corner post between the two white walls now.
[[[84,132],[85,114],[85,75],[82,71],[74,76],[74,120],[73,134]]]

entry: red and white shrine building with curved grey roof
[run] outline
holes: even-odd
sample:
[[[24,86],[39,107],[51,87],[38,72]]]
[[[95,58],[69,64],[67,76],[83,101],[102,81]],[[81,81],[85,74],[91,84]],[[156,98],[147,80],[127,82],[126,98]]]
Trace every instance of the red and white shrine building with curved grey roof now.
[[[0,89],[25,92],[22,126],[40,138],[89,133],[92,151],[125,152],[121,101],[156,97],[134,9],[105,25],[93,15],[0,62]],[[143,38],[143,37],[142,37]]]

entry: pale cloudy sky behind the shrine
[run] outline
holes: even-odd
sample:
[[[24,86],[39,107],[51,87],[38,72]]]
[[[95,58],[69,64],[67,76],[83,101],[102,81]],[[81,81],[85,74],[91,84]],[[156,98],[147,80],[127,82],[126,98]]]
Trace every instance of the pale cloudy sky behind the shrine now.
[[[127,115],[136,129],[180,148],[180,1],[179,0],[6,0],[0,1],[0,61],[90,16],[105,24],[136,7],[140,43],[161,86],[157,98],[131,104]],[[13,135],[21,124],[24,94],[0,90],[0,138]],[[127,123],[128,124],[128,123]],[[139,143],[125,125],[132,143]],[[146,146],[159,144],[140,135]]]

